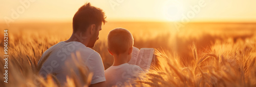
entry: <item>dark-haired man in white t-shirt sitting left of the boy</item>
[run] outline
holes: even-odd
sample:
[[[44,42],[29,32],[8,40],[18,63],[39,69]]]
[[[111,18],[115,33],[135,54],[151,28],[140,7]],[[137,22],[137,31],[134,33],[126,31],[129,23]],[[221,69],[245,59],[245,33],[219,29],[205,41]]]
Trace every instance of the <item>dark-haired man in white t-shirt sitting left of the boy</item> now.
[[[104,12],[90,3],[79,8],[73,17],[73,34],[67,41],[61,41],[48,50],[46,50],[38,65],[44,62],[50,52],[48,59],[42,64],[39,71],[41,76],[46,77],[47,74],[55,74],[61,85],[65,85],[67,77],[71,77],[73,70],[76,75],[79,70],[72,61],[72,53],[79,52],[82,63],[93,72],[93,77],[90,86],[105,86],[104,66],[98,52],[91,49],[94,47],[96,40],[99,39],[99,31],[101,30],[102,22],[105,23]],[[75,56],[75,57],[76,57]],[[78,75],[78,77],[81,77]],[[80,78],[82,79],[82,78]],[[81,82],[82,83],[82,82]]]

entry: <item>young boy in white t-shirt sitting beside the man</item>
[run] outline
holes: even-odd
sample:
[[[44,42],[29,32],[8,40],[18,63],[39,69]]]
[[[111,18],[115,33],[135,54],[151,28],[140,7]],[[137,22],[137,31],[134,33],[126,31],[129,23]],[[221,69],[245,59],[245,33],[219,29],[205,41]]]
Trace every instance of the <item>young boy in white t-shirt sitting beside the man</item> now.
[[[143,70],[137,65],[127,64],[133,51],[133,36],[124,28],[115,28],[108,35],[108,50],[114,56],[113,65],[105,70],[106,86],[124,86],[136,79]],[[134,86],[134,84],[132,84]]]

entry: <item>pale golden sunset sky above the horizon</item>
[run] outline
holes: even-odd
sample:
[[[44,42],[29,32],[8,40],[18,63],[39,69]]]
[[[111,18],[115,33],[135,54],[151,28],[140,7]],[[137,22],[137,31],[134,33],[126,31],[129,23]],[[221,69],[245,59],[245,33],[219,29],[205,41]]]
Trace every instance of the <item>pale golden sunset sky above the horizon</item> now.
[[[71,22],[87,2],[108,21],[256,22],[254,0],[2,0],[0,22]]]

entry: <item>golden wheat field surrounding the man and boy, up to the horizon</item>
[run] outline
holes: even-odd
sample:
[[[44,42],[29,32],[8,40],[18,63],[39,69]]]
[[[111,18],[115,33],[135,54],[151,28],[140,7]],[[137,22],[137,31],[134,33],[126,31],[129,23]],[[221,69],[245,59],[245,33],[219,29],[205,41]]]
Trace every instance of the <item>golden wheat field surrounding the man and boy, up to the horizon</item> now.
[[[105,69],[113,64],[105,37],[116,27],[133,34],[135,47],[157,50],[156,65],[141,74],[137,86],[256,86],[255,23],[189,23],[179,32],[166,22],[106,23],[93,48],[101,55]],[[0,29],[0,34],[4,34],[5,28]],[[0,85],[59,86],[53,74],[47,79],[40,77],[41,64],[37,64],[44,51],[70,37],[72,23],[12,24],[8,33],[8,83],[1,78]],[[0,50],[4,50],[4,35],[0,37]],[[4,51],[0,54],[4,55]],[[1,56],[2,75],[3,59]],[[92,73],[79,62],[77,67],[87,84],[80,85],[73,74],[66,86],[90,83]]]

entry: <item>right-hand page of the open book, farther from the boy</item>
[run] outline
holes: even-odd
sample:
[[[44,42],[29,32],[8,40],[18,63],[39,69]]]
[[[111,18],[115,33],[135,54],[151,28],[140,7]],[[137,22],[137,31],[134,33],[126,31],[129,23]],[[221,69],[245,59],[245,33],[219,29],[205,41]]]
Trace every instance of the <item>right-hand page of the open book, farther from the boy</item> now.
[[[140,68],[143,71],[150,69],[152,59],[154,57],[154,51],[155,51],[154,48],[141,48],[140,49],[140,53],[138,55],[138,62],[136,63],[136,65],[138,64],[138,66],[140,66]]]

